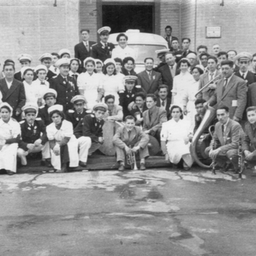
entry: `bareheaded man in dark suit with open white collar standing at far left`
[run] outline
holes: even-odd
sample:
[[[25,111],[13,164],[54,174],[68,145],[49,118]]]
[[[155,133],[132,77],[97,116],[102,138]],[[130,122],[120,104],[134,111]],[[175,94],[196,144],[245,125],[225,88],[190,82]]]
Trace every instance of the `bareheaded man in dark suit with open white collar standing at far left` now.
[[[5,78],[0,80],[2,102],[7,102],[13,108],[12,117],[17,121],[21,119],[21,108],[26,103],[25,89],[22,82],[14,79],[15,67],[11,63],[3,66]]]

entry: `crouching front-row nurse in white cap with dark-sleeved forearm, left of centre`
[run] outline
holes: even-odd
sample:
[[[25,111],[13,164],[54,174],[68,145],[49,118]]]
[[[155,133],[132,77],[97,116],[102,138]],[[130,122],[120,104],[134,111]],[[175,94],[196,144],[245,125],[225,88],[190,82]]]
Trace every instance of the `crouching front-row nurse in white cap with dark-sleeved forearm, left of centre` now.
[[[67,172],[68,167],[77,167],[79,164],[78,141],[73,134],[73,125],[64,119],[62,105],[49,107],[48,113],[52,119],[52,123],[46,128],[51,163],[56,172]]]

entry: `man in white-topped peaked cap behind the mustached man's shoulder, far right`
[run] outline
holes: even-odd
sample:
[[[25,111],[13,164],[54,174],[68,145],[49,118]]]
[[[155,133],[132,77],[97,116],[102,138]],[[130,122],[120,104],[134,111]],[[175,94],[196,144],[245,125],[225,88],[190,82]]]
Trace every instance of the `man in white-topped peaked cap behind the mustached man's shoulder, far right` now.
[[[249,52],[240,52],[235,57],[238,61],[239,71],[235,73],[236,76],[246,81],[247,87],[256,82],[256,76],[248,70],[253,56]]]

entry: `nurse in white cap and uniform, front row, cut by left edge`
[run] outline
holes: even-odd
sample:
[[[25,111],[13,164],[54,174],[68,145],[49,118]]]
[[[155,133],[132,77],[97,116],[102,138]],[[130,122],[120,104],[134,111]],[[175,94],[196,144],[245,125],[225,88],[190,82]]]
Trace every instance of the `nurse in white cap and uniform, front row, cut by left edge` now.
[[[17,171],[17,149],[20,140],[20,124],[12,116],[12,107],[3,102],[0,105],[0,169],[8,175]]]

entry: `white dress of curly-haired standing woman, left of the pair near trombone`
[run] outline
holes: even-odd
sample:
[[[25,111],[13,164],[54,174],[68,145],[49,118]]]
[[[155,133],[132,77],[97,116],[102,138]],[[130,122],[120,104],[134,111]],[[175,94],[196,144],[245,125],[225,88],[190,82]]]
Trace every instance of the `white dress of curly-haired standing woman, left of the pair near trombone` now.
[[[183,108],[182,99],[184,95],[184,90],[189,87],[189,85],[194,80],[193,76],[187,71],[186,73],[180,73],[173,79],[173,105],[178,105]]]

